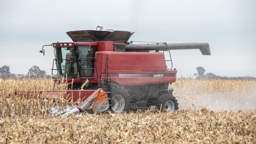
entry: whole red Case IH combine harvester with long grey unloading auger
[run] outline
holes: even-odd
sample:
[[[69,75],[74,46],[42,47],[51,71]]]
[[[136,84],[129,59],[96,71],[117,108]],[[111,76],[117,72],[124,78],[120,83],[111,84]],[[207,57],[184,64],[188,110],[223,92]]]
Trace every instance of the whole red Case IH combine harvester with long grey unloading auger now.
[[[73,82],[67,95],[73,93],[76,101],[77,91],[83,89],[80,98],[85,101],[65,114],[128,112],[161,105],[169,112],[178,110],[173,89],[168,88],[177,73],[169,50],[200,49],[203,55],[211,55],[208,43],[132,44],[128,40],[134,32],[101,30],[66,32],[73,42],[45,45],[54,48],[55,81]]]

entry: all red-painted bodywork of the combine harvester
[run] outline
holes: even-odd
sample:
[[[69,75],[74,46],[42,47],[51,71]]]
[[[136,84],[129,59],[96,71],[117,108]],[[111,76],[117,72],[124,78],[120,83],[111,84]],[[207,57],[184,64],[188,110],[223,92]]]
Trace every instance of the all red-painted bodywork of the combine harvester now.
[[[167,70],[165,64],[164,54],[160,52],[149,53],[144,52],[115,52],[114,45],[125,45],[127,43],[99,41],[99,42],[71,42],[72,45],[88,45],[96,46],[95,65],[97,69],[94,70],[93,77],[81,77],[74,79],[73,83],[85,83],[88,79],[89,83],[98,83],[100,75],[104,76],[105,61],[107,55],[108,59],[108,74],[152,74],[163,77],[152,76],[138,76],[138,77],[112,77],[112,80],[119,84],[126,85],[149,85],[159,83],[172,83],[176,81],[176,70]],[[54,43],[53,43],[54,44]],[[172,74],[172,76],[165,76],[165,74]],[[98,76],[98,78],[96,78]],[[68,83],[72,79],[67,80]]]

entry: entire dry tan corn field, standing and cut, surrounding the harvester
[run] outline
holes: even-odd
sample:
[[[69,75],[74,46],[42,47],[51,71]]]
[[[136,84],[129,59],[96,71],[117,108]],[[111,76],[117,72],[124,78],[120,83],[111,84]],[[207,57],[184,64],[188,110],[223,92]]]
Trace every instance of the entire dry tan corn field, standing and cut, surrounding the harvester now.
[[[169,87],[180,108],[172,113],[53,116],[47,111],[53,100],[13,93],[51,91],[51,79],[0,79],[0,144],[256,144],[256,81],[181,79]],[[65,91],[66,84],[55,89]]]

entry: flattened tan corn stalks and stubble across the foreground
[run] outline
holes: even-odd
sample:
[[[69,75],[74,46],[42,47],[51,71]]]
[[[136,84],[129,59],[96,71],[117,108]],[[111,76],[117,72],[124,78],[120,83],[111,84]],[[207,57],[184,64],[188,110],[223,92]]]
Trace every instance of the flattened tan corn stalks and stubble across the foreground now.
[[[256,112],[146,110],[0,120],[0,143],[255,144]]]

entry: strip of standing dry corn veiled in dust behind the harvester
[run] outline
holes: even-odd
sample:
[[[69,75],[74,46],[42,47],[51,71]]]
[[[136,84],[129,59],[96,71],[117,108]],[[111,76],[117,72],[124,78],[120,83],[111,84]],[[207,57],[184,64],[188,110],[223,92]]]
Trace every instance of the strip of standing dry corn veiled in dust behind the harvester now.
[[[174,87],[179,109],[256,111],[256,81],[253,80],[177,80],[170,87]]]

